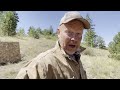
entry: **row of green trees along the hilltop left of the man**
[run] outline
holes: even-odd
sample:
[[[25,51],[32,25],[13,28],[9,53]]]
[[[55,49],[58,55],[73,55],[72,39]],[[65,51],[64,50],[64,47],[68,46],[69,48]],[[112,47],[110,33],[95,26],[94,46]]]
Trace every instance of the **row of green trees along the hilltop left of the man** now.
[[[25,34],[24,28],[16,29],[19,22],[18,14],[15,11],[0,11],[0,36],[30,36],[36,39],[40,38],[40,35],[55,36],[52,26],[48,29],[41,30],[41,28],[34,28],[30,26],[28,33]]]

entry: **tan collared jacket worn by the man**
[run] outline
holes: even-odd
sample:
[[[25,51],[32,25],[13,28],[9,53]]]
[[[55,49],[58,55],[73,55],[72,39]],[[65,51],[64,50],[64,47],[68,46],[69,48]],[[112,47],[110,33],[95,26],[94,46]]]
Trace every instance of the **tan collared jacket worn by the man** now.
[[[81,61],[69,58],[57,42],[53,49],[28,62],[16,79],[87,79],[87,76]]]

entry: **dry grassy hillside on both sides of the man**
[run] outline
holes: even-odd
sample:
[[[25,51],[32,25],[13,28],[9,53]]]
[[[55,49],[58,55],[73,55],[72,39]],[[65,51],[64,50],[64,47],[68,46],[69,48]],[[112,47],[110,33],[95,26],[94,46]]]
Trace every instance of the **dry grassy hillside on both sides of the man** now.
[[[0,41],[19,42],[22,61],[0,66],[1,79],[14,79],[18,71],[39,53],[54,47],[55,40],[30,37],[0,37]],[[87,48],[81,55],[88,79],[120,79],[120,61],[108,58],[107,50]]]

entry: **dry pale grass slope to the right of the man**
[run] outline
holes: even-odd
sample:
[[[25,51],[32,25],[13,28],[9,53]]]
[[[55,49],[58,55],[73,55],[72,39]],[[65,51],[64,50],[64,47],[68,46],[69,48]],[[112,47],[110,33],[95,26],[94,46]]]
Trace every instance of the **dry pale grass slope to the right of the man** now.
[[[92,49],[94,56],[82,55],[89,79],[120,79],[120,61],[108,58],[107,50]]]

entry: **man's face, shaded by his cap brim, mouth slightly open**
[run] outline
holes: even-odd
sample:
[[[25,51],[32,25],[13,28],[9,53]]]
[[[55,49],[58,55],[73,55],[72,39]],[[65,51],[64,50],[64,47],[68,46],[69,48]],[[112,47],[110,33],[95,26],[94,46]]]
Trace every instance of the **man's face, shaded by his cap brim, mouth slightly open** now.
[[[80,47],[84,26],[78,20],[62,24],[58,29],[58,38],[63,50],[69,54],[74,54]]]

